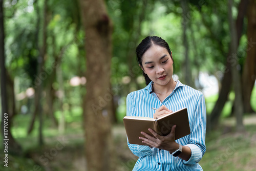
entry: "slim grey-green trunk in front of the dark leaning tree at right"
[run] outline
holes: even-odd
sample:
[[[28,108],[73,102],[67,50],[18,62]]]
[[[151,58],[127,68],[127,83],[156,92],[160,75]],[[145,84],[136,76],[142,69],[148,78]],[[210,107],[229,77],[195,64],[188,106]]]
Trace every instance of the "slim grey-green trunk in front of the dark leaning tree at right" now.
[[[230,37],[231,37],[231,59],[234,61],[231,64],[231,75],[232,75],[232,82],[234,85],[234,93],[236,94],[236,97],[234,98],[234,114],[237,119],[237,131],[243,131],[244,125],[243,125],[243,99],[242,99],[242,86],[241,86],[241,75],[239,73],[238,68],[238,57],[237,57],[237,30],[234,25],[233,17],[232,17],[232,6],[233,1],[228,0],[228,23],[229,23],[229,29],[230,29]]]

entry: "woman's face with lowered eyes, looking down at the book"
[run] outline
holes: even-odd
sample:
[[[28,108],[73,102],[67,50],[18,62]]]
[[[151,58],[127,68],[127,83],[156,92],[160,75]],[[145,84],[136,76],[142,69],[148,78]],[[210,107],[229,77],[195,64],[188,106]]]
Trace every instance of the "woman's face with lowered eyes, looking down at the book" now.
[[[154,84],[165,86],[173,79],[173,59],[165,48],[153,45],[142,56],[142,70]]]

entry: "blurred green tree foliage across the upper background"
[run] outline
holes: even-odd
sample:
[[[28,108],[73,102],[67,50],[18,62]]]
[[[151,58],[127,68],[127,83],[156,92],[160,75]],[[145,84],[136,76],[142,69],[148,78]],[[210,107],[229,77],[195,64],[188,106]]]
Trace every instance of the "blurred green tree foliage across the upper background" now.
[[[135,48],[147,35],[158,35],[168,42],[175,60],[175,74],[183,80],[182,27],[184,25],[188,26],[189,58],[192,61],[190,65],[193,79],[197,79],[199,71],[214,74],[218,80],[222,78],[229,48],[227,4],[225,1],[189,2],[189,11],[184,16],[179,1],[168,3],[164,0],[106,1],[114,24],[111,82],[113,89],[118,90],[116,95],[119,103],[127,93],[141,89],[145,85],[141,76],[142,71],[136,61]],[[235,5],[238,4],[239,2],[236,1]],[[79,3],[69,0],[61,3],[51,1],[48,7],[45,70],[54,69],[55,58],[61,57],[58,67],[62,70],[65,92],[71,92],[74,88],[69,84],[70,79],[74,76],[83,76],[86,70]],[[37,56],[40,54],[42,44],[43,1],[26,0],[16,3],[6,1],[5,9],[6,66],[12,77],[19,80],[19,83],[16,83],[18,87],[16,93],[19,94],[33,87],[36,82]],[[237,13],[237,9],[234,8],[234,14]],[[243,34],[239,47],[241,66],[246,57],[245,30]],[[204,65],[200,65],[201,63]],[[49,82],[50,74],[44,80],[45,87]],[[197,84],[198,89],[202,89],[201,86]],[[59,88],[56,79],[53,88],[55,91]],[[77,90],[83,91],[82,94],[85,93],[83,87]],[[75,97],[80,98],[79,93],[75,94],[72,96],[74,101],[70,102],[70,99],[65,101],[70,104],[81,103],[81,100],[75,100]]]

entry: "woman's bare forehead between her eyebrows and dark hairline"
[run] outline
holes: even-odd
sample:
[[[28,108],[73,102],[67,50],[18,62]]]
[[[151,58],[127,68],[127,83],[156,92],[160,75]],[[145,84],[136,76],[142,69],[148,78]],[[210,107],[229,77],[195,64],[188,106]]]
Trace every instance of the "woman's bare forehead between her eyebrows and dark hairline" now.
[[[146,62],[146,61],[154,61],[154,60],[159,60],[163,55],[167,55],[169,56],[169,53],[167,51],[167,49],[157,46],[157,45],[153,45],[150,49],[148,49],[142,58],[142,62]]]

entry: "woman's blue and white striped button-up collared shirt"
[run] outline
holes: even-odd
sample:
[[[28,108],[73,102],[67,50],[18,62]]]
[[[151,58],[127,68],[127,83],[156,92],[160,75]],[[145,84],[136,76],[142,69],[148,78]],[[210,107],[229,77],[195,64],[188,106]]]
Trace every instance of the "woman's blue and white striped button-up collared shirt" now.
[[[206,108],[203,94],[177,81],[174,91],[161,102],[153,92],[151,82],[144,89],[127,95],[126,115],[153,118],[155,111],[152,107],[158,109],[161,105],[174,112],[187,108],[190,134],[176,142],[188,146],[191,149],[191,157],[185,161],[163,149],[130,144],[128,141],[133,154],[139,157],[133,170],[203,170],[198,164],[206,151]]]

